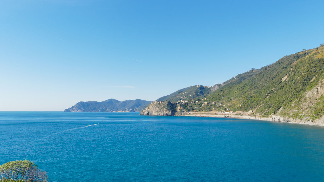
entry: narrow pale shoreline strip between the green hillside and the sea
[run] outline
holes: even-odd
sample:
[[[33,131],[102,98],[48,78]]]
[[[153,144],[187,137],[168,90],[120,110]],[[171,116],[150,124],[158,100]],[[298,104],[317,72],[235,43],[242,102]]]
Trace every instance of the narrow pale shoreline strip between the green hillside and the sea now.
[[[213,116],[214,115],[214,116]],[[236,119],[255,119],[255,120],[262,120],[262,121],[272,121],[272,122],[282,122],[282,123],[294,123],[294,124],[304,124],[304,125],[311,125],[311,126],[321,126],[324,127],[324,123],[312,123],[311,121],[302,121],[300,120],[299,122],[293,122],[289,120],[295,120],[297,119],[284,119],[283,116],[280,115],[272,115],[273,117],[269,118],[263,118],[263,117],[258,117],[258,116],[246,116],[246,115],[224,115],[224,114],[184,114],[180,116],[191,116],[191,117],[209,117],[209,118],[236,118]],[[226,117],[228,116],[228,117]],[[277,119],[277,120],[273,120]],[[280,119],[280,121],[278,120]],[[284,121],[288,120],[288,121]]]

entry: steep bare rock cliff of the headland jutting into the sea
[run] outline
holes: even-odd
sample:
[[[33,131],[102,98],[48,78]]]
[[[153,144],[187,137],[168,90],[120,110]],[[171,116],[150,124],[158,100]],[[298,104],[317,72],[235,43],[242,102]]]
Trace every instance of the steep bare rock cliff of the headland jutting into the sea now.
[[[153,116],[174,116],[176,104],[169,101],[164,102],[152,102],[146,108],[142,110],[140,115],[153,115]]]

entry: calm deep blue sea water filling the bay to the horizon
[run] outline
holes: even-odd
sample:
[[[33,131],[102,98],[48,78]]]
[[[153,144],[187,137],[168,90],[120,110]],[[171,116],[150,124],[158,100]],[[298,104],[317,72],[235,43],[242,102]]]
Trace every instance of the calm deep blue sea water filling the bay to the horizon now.
[[[0,112],[0,164],[50,182],[324,181],[323,127],[138,114]]]

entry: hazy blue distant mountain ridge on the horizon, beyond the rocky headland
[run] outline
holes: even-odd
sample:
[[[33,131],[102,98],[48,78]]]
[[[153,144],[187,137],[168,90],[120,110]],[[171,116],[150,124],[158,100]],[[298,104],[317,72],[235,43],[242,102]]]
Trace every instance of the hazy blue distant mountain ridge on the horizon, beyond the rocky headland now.
[[[140,112],[150,103],[151,101],[142,99],[119,101],[111,98],[102,102],[78,102],[71,108],[65,109],[64,112]]]

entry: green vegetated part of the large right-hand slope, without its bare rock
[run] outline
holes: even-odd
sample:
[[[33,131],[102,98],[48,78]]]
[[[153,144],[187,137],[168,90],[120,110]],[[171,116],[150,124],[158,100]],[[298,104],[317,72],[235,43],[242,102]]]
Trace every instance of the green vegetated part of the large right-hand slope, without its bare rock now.
[[[323,48],[285,56],[261,68],[258,74],[240,84],[218,89],[206,100],[225,102],[232,110],[276,114],[281,107],[288,107],[292,101],[319,83],[324,62],[323,58],[312,55],[317,55],[320,50]]]

